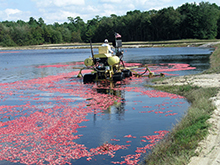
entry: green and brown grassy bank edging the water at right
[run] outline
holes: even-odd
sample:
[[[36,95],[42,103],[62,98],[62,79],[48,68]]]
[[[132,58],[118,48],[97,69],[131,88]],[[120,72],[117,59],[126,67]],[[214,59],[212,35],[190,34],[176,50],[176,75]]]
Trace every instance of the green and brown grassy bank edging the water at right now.
[[[219,73],[220,45],[216,46],[210,62],[210,69],[206,73]],[[152,149],[144,164],[187,164],[192,156],[198,154],[195,153],[195,149],[208,134],[210,125],[207,120],[215,108],[209,99],[217,94],[218,89],[199,88],[190,84],[154,88],[185,96],[191,106],[187,114],[174,126],[167,137]]]

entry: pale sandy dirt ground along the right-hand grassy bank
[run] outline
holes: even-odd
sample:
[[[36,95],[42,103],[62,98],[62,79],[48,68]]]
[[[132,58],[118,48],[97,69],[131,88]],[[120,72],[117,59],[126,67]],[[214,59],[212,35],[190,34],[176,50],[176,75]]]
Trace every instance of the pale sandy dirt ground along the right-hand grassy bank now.
[[[201,74],[180,76],[156,82],[155,85],[184,85],[199,86],[203,88],[217,87],[220,89],[220,74]],[[197,152],[199,156],[192,157],[189,165],[217,165],[220,164],[220,92],[216,97],[210,98],[216,109],[213,111],[209,135],[199,143]]]

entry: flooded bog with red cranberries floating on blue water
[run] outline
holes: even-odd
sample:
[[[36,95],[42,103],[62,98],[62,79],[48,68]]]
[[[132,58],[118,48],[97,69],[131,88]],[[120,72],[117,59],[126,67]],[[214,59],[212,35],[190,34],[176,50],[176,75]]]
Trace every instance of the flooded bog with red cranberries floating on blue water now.
[[[124,60],[177,76],[207,69],[212,51],[130,48]],[[147,77],[83,84],[72,68],[88,56],[88,49],[0,52],[0,164],[137,164],[189,107],[182,96],[144,87]]]

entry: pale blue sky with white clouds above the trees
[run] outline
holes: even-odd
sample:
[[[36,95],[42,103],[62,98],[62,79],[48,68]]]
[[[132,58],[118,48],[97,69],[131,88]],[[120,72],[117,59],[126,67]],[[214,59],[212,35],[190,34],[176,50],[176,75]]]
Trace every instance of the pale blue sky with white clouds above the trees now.
[[[100,17],[126,15],[128,11],[160,10],[167,7],[175,9],[185,3],[200,3],[202,0],[0,0],[0,22],[29,21],[30,17],[37,21],[41,17],[46,24],[69,22],[68,17],[77,17],[84,22]],[[220,0],[204,1],[216,3]]]

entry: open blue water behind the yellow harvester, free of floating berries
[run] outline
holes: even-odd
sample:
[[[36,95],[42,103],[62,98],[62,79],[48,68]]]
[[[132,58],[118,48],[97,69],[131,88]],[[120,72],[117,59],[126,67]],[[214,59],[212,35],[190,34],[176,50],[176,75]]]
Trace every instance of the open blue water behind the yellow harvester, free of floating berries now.
[[[196,70],[179,73],[181,75],[206,70],[209,67],[210,53],[213,51],[213,49],[194,47],[124,48],[123,50],[126,62],[144,64],[187,63],[196,67]],[[94,49],[94,53],[98,53],[98,50]],[[91,56],[89,49],[3,51],[0,53],[0,82],[13,82],[70,72],[71,69],[68,68],[36,69],[36,66],[84,61],[89,56]]]

